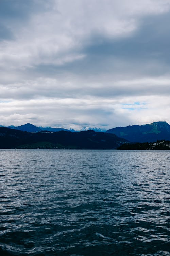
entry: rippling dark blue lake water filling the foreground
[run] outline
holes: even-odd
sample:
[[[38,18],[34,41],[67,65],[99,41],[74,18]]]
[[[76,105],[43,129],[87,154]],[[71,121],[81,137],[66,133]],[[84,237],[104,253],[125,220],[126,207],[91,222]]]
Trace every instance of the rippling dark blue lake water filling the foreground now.
[[[170,255],[170,151],[0,150],[0,255]]]

